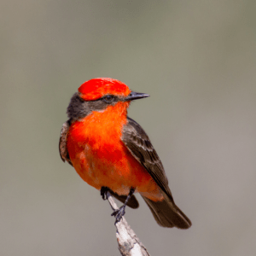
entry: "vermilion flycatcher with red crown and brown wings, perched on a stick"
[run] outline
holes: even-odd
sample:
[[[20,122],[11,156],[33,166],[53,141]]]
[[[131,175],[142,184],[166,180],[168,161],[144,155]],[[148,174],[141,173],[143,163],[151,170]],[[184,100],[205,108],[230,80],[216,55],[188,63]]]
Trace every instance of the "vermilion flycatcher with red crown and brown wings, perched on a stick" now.
[[[160,226],[188,229],[189,218],[175,205],[164,167],[143,128],[127,117],[133,100],[148,97],[115,79],[91,79],[79,87],[62,125],[60,154],[86,183],[109,191],[124,205],[113,212],[116,221],[125,206],[138,207],[143,196]]]

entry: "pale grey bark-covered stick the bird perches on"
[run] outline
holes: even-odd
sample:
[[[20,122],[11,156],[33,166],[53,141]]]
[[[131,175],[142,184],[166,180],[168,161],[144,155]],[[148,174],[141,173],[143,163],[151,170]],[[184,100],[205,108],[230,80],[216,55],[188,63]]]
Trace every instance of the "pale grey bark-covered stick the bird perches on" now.
[[[107,192],[107,198],[113,211],[119,209],[109,192]],[[123,256],[149,256],[146,247],[139,241],[124,217],[114,225],[116,227],[116,238],[119,243],[119,251]]]

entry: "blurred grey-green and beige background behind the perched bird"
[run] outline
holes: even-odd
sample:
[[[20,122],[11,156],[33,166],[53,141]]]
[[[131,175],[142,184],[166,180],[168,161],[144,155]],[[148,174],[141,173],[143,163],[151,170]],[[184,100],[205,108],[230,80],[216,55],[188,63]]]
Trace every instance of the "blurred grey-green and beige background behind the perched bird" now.
[[[151,97],[147,131],[189,230],[126,219],[152,255],[255,255],[256,2],[2,1],[0,254],[119,255],[99,192],[58,152],[70,97],[110,77]],[[139,197],[139,196],[138,196]]]

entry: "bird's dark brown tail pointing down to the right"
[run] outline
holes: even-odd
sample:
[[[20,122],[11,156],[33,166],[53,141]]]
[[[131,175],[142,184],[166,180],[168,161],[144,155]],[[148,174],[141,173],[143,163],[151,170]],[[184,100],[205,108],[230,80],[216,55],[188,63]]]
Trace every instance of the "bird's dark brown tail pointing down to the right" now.
[[[154,219],[160,226],[178,229],[189,229],[192,225],[189,218],[175,205],[166,193],[163,192],[165,199],[163,201],[151,201],[144,197],[149,209],[153,213]]]

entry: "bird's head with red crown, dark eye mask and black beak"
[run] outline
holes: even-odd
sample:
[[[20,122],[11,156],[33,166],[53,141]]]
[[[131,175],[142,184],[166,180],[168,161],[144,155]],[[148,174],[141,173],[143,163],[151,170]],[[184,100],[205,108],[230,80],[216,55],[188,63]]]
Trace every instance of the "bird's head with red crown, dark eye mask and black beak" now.
[[[71,98],[67,116],[71,120],[83,119],[93,111],[102,112],[110,106],[126,110],[131,101],[145,97],[148,94],[131,91],[116,79],[90,79]]]

